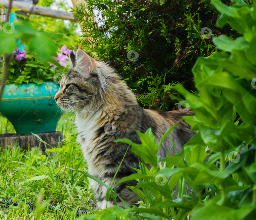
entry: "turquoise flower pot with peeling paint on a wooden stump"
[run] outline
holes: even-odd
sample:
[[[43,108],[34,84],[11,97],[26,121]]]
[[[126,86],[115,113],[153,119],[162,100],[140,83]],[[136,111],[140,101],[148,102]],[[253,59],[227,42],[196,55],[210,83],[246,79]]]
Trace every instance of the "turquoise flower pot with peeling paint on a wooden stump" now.
[[[5,86],[0,112],[13,124],[17,134],[54,132],[61,110],[54,100],[55,82]]]

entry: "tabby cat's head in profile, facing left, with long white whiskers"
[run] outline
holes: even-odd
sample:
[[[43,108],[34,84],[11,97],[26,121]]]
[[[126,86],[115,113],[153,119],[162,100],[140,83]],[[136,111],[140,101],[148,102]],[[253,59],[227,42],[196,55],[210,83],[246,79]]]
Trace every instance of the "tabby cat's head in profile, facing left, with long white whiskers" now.
[[[65,111],[82,111],[102,100],[113,70],[78,49],[70,54],[71,68],[61,79],[55,101]]]

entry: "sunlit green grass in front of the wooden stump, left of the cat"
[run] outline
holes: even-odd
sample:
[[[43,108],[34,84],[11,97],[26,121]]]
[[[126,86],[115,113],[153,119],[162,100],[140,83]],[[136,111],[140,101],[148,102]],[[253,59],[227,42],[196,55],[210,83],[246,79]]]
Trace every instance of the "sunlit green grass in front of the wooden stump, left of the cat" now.
[[[37,156],[38,152],[30,149],[23,152],[19,146],[0,152],[0,197],[20,204],[0,206],[0,219],[74,219],[75,212],[43,211],[40,205],[46,201],[85,209],[93,203],[88,178],[70,169],[87,172],[80,146],[75,141],[72,118],[66,115],[59,121],[57,130],[63,131],[64,144],[61,148],[52,148],[48,155]],[[1,116],[0,121],[1,133],[15,133],[7,119]],[[35,177],[38,179],[31,179]],[[25,205],[27,201],[38,204],[37,209],[30,210]]]

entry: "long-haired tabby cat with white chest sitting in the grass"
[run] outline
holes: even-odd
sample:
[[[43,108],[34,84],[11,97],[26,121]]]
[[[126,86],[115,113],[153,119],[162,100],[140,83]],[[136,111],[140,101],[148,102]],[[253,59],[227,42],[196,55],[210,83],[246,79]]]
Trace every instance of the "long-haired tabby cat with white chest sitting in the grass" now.
[[[76,111],[75,122],[88,171],[108,186],[128,147],[113,140],[128,138],[140,144],[135,130],[145,133],[151,128],[156,142],[159,142],[166,130],[179,120],[181,122],[170,133],[175,145],[170,155],[175,150],[179,152],[192,137],[190,126],[181,118],[191,115],[191,111],[183,113],[180,110],[164,112],[142,109],[125,82],[106,63],[96,61],[81,49],[76,51],[76,56],[70,54],[70,61],[72,67],[62,78],[55,100],[63,110]],[[106,128],[109,126],[113,130],[108,132]],[[170,138],[166,138],[158,150],[158,155],[161,158],[167,157],[171,146]],[[138,158],[129,148],[114,184],[135,173],[131,168],[135,165],[139,167]],[[118,195],[127,204],[140,200],[127,185],[136,185],[136,181],[115,185]],[[92,188],[98,199],[97,209],[114,205],[112,198],[106,201],[106,187],[92,181]],[[116,201],[119,206],[124,207],[118,197]]]

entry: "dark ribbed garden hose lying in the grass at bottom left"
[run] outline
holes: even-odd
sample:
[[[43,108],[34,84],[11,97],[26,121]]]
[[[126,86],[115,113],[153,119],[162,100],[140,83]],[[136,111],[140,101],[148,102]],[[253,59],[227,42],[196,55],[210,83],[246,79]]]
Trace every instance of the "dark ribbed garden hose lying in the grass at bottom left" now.
[[[2,204],[7,205],[7,206],[9,206],[9,205],[18,206],[18,202],[17,202],[17,201],[16,201],[16,202],[13,202],[13,200],[11,200],[11,199],[5,199],[5,198],[0,198],[0,205],[2,205]],[[27,202],[27,205],[28,205],[31,209],[34,209],[34,208],[36,207],[36,206],[35,206],[33,203],[31,203],[31,202]],[[48,209],[48,210],[53,211],[56,206],[58,206],[58,205],[46,205],[45,209]],[[60,211],[63,211],[63,212],[65,213],[67,208],[66,208],[65,206],[59,206],[57,209],[60,210]],[[70,209],[68,209],[68,210],[69,210],[69,211],[73,211],[74,208],[70,208]],[[79,216],[80,214],[88,214],[88,213],[89,213],[89,211],[87,211],[87,210],[83,210],[83,209],[79,209],[79,208],[76,209],[76,215],[77,215],[77,216]]]

